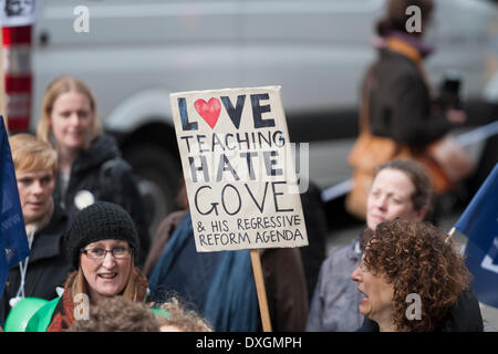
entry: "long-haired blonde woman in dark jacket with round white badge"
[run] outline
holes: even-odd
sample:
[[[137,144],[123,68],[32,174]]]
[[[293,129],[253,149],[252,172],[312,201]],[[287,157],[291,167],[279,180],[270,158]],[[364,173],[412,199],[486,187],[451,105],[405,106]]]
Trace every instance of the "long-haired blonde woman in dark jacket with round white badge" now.
[[[132,168],[103,133],[95,97],[83,81],[62,76],[46,87],[37,135],[58,152],[55,204],[71,216],[97,200],[121,205],[137,226],[145,257],[148,231]]]

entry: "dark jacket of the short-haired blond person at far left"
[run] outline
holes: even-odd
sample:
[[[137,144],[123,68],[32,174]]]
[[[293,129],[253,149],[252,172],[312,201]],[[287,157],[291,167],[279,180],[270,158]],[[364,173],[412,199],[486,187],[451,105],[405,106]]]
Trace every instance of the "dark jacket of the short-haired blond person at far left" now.
[[[71,271],[66,257],[63,233],[69,218],[64,210],[55,206],[49,225],[37,232],[31,246],[28,271],[24,282],[24,295],[51,300],[58,294],[56,287],[63,287]],[[0,301],[0,319],[4,323],[10,312],[9,300],[14,298],[21,283],[19,266],[9,271],[8,282]]]

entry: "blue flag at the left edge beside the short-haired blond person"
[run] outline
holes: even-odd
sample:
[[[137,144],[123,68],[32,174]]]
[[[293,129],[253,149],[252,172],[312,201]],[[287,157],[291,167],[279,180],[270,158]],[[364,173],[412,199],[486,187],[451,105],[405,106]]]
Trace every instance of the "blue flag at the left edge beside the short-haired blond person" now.
[[[30,254],[18,183],[3,117],[0,115],[0,298],[9,269]]]

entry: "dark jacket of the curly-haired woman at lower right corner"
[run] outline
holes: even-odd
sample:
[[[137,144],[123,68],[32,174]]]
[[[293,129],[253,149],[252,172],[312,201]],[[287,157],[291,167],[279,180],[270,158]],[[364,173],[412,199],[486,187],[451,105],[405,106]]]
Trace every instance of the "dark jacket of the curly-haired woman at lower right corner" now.
[[[434,330],[434,332],[483,331],[484,324],[479,301],[471,290],[465,290],[459,294],[457,302],[448,310],[446,316]],[[357,332],[378,332],[378,325],[375,321],[365,317],[363,325]]]

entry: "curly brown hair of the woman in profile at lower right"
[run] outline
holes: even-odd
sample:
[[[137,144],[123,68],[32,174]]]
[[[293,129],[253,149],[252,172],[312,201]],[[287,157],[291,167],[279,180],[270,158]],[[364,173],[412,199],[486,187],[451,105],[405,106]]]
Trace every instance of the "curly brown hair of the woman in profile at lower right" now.
[[[364,264],[393,284],[393,320],[398,331],[430,332],[470,282],[456,244],[422,221],[384,221],[362,239]],[[408,320],[406,296],[422,301],[422,319]]]

